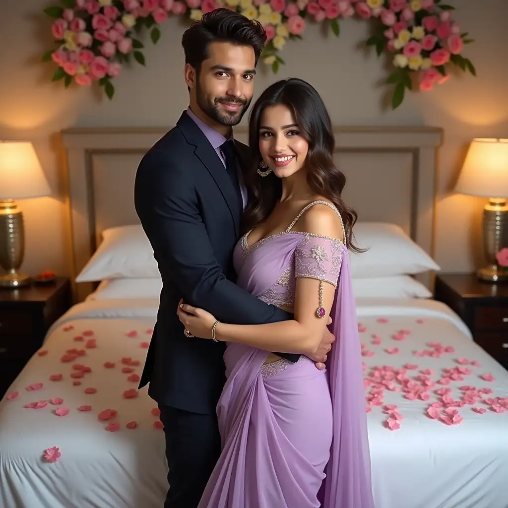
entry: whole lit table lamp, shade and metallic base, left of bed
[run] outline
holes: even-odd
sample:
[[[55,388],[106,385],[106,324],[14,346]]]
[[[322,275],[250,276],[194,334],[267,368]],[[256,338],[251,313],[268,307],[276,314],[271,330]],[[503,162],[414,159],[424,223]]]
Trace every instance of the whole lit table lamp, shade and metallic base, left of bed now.
[[[30,142],[0,141],[0,287],[18,288],[29,277],[18,272],[24,256],[23,214],[15,199],[48,196],[50,188]]]

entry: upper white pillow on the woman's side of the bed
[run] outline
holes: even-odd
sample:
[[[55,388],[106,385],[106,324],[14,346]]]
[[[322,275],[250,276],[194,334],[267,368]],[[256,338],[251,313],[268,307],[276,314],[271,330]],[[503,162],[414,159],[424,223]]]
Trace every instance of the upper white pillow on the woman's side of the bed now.
[[[356,245],[369,248],[361,254],[350,252],[353,278],[414,275],[440,270],[435,261],[395,224],[357,223],[353,234]]]

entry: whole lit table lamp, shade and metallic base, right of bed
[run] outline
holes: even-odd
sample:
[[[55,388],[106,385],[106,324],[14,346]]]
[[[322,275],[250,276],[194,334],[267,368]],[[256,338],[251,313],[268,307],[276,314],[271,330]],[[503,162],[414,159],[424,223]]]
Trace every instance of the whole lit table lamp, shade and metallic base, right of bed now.
[[[496,260],[496,254],[508,247],[508,139],[473,139],[455,192],[489,198],[483,211],[488,266],[478,271],[478,277],[489,282],[508,280],[508,267],[499,266]]]

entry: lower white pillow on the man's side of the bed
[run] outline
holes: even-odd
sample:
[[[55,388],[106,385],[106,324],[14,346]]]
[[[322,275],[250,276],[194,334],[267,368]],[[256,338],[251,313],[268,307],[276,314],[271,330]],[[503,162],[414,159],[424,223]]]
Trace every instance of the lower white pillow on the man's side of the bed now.
[[[87,296],[87,300],[116,300],[128,298],[159,298],[162,279],[123,278],[103,280],[97,289]]]

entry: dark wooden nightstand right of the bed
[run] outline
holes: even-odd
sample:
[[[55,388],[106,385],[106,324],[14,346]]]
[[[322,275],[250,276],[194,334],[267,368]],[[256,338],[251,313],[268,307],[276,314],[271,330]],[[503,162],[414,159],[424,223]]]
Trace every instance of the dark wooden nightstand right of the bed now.
[[[483,282],[475,274],[440,274],[434,298],[459,314],[474,341],[508,369],[507,283]]]

